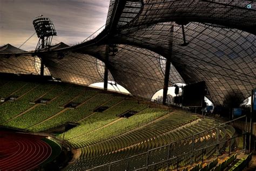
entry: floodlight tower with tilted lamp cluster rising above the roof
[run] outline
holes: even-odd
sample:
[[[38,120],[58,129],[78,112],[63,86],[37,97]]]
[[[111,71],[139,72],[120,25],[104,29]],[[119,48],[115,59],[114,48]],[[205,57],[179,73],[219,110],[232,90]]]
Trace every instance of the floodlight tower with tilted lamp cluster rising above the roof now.
[[[36,17],[33,20],[33,25],[37,33],[37,37],[39,38],[35,52],[39,52],[43,49],[49,48],[51,45],[52,37],[57,36],[57,32],[55,30],[55,26],[53,25],[50,18],[44,18],[43,15]],[[41,59],[41,76],[44,75],[44,60],[43,57]]]

